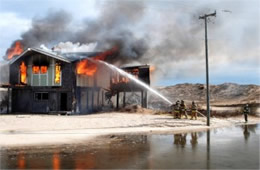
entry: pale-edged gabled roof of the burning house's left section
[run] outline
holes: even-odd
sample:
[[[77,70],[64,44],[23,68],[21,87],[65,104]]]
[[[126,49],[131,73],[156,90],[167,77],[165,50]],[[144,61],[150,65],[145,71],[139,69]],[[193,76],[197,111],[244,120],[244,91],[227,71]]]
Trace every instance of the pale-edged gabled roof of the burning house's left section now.
[[[56,53],[53,51],[42,50],[39,48],[28,48],[22,54],[20,54],[18,57],[15,57],[14,59],[12,59],[10,61],[10,64],[13,64],[19,58],[23,57],[24,55],[30,54],[32,52],[40,53],[40,54],[55,58],[57,60],[64,61],[66,63],[71,63],[74,61],[82,60],[84,58],[93,57],[99,53],[99,52],[86,52],[86,53],[61,53],[61,54],[59,54],[59,53]]]

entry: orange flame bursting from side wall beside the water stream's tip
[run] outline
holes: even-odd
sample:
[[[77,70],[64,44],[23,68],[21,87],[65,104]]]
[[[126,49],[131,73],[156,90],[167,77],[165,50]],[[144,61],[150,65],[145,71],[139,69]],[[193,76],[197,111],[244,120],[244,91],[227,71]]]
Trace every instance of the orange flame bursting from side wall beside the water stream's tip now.
[[[93,57],[93,60],[105,60],[107,56],[114,54],[117,51],[117,48],[114,47],[111,50],[105,51],[95,57]],[[76,66],[76,72],[77,74],[83,74],[87,76],[93,76],[97,71],[97,64],[94,62],[91,62],[88,59],[84,59],[82,61],[79,61]]]

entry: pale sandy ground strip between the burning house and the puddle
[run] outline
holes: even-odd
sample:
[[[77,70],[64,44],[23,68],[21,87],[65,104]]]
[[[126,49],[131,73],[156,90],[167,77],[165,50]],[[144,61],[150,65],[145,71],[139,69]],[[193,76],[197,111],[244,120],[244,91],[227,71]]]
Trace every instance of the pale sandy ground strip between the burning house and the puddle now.
[[[260,123],[249,117],[249,123]],[[242,116],[211,118],[211,127],[244,124]],[[84,116],[0,115],[0,147],[84,143],[97,136],[125,133],[181,133],[206,130],[206,118],[173,119],[171,115],[99,113]]]

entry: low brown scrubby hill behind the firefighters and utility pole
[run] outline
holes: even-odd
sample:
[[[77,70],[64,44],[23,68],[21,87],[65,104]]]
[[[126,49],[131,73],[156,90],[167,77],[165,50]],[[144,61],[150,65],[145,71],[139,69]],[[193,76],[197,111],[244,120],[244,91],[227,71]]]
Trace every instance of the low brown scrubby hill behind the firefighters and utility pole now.
[[[206,85],[204,84],[177,84],[174,86],[158,87],[157,90],[170,101],[184,100],[187,104],[192,101],[198,104],[206,104]],[[210,103],[212,106],[239,106],[246,103],[260,104],[260,86],[239,85],[224,83],[210,85]],[[149,105],[153,108],[164,108],[168,104],[160,98],[151,95]]]

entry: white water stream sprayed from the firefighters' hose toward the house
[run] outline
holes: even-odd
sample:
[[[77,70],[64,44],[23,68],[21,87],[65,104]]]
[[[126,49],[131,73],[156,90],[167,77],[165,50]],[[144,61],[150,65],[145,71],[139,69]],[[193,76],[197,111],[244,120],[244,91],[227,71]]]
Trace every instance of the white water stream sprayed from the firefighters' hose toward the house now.
[[[172,105],[172,102],[170,100],[168,100],[166,97],[164,97],[162,94],[160,94],[158,91],[156,91],[155,89],[151,88],[150,86],[148,86],[147,84],[145,84],[144,82],[138,80],[137,78],[135,78],[133,75],[125,72],[124,70],[112,65],[112,64],[109,64],[107,62],[104,62],[104,61],[101,61],[101,60],[98,60],[100,63],[108,66],[110,69],[114,70],[114,71],[117,71],[119,74],[129,78],[130,80],[134,81],[136,84],[144,87],[145,89],[147,89],[148,91],[152,92],[153,94],[155,94],[156,96],[160,97],[161,99],[163,99],[164,101],[166,101],[167,103],[169,103],[170,105]]]

